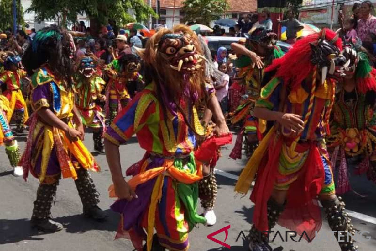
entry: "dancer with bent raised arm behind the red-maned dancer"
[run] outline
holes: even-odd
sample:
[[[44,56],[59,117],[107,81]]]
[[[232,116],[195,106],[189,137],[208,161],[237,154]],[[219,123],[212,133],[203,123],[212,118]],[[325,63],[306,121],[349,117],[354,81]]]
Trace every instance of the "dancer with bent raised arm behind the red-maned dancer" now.
[[[238,59],[234,61],[234,66],[241,69],[239,72],[239,77],[242,79],[240,84],[245,88],[245,94],[248,97],[231,118],[233,124],[244,119],[244,127],[238,134],[237,143],[230,154],[230,157],[234,159],[241,158],[244,133],[247,138],[246,155],[250,156],[258,146],[262,133],[266,130],[265,123],[253,117],[253,107],[255,100],[260,96],[264,69],[271,64],[274,58],[283,55],[282,50],[276,45],[277,34],[271,30],[258,27],[250,30],[250,33],[246,33],[245,36],[247,38],[245,46],[239,43],[231,44],[233,52],[238,56]],[[245,112],[246,110],[250,112]]]

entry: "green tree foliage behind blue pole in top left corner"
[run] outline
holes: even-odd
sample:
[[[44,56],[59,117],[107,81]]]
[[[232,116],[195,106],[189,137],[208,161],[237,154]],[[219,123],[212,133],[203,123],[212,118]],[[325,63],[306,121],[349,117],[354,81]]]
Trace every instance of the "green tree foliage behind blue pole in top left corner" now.
[[[21,27],[24,26],[25,21],[23,18],[23,8],[22,4],[19,6],[20,1],[16,1],[17,11],[20,10],[20,15],[17,12],[17,24]],[[21,7],[21,8],[19,8]],[[0,0],[0,30],[8,29],[13,27],[13,1],[12,0]],[[12,29],[13,30],[13,29]]]

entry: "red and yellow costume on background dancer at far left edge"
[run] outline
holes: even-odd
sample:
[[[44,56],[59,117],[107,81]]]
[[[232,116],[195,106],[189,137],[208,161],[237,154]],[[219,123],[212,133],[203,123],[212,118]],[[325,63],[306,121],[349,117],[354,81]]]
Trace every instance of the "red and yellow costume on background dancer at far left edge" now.
[[[4,85],[2,93],[9,100],[11,110],[7,113],[8,121],[12,119],[13,113],[22,114],[23,122],[29,118],[27,105],[21,91],[21,79],[26,76],[26,71],[18,69],[17,71],[5,70],[0,76],[0,85]],[[22,123],[22,121],[20,122]]]

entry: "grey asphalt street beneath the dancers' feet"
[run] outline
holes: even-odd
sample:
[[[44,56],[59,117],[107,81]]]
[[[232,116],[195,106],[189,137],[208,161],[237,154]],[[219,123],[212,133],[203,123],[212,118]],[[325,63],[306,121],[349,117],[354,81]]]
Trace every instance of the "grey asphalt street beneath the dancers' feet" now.
[[[236,136],[235,136],[236,137]],[[233,141],[235,141],[235,137]],[[24,148],[26,137],[18,138],[21,149]],[[86,133],[85,144],[89,150],[93,149],[92,136]],[[139,148],[135,138],[132,138],[127,145],[121,146],[122,165],[125,170],[128,166],[140,160],[143,151]],[[223,157],[217,165],[217,169],[226,173],[218,174],[218,199],[216,205],[216,213],[218,223],[214,227],[199,226],[190,234],[190,250],[193,251],[220,251],[228,250],[209,239],[207,235],[217,231],[227,225],[230,225],[229,235],[226,243],[231,246],[232,251],[247,250],[246,241],[237,236],[240,231],[246,231],[250,228],[252,220],[252,203],[249,195],[244,198],[237,196],[233,192],[237,175],[240,175],[241,169],[245,164],[245,160],[233,161],[227,156],[230,147],[224,149]],[[64,230],[54,234],[41,234],[36,230],[31,230],[30,216],[33,207],[33,201],[36,196],[38,181],[31,175],[27,182],[21,177],[14,177],[9,169],[8,158],[5,154],[4,147],[0,150],[0,250],[1,251],[103,251],[103,250],[124,250],[132,251],[132,244],[129,240],[114,240],[115,231],[119,217],[117,214],[109,210],[112,199],[108,198],[108,186],[111,183],[111,175],[106,164],[105,156],[96,157],[98,163],[102,167],[101,173],[93,173],[92,177],[101,193],[100,207],[106,210],[109,218],[106,222],[100,223],[83,218],[82,205],[74,186],[73,180],[62,180],[58,187],[56,202],[52,207],[52,215],[56,221],[64,224]],[[230,173],[232,175],[228,175]],[[359,250],[371,251],[376,249],[376,186],[368,182],[365,176],[351,176],[354,192],[349,192],[343,196],[346,200],[347,208],[354,213],[353,224],[361,231],[368,231],[366,236],[371,239],[367,241],[365,237],[361,237]],[[140,196],[140,195],[139,195]],[[202,209],[199,209],[200,213]],[[373,222],[373,223],[371,223]],[[285,230],[277,227],[282,233],[285,240]],[[224,232],[214,236],[218,240],[224,240]],[[297,238],[296,238],[297,240]],[[277,238],[271,243],[273,248],[284,246],[287,251],[318,251],[318,250],[340,250],[338,244],[329,230],[326,221],[323,222],[321,231],[317,239],[312,243],[305,240],[301,242],[282,242]]]

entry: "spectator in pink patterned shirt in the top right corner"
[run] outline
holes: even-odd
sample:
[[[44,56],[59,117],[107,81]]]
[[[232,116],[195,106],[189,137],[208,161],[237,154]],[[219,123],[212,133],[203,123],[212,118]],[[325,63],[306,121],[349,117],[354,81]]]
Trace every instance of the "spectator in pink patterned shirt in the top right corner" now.
[[[358,37],[364,41],[368,33],[376,33],[376,17],[371,12],[373,11],[373,4],[371,1],[365,1],[360,8],[361,17],[358,20],[358,28],[356,32]]]

